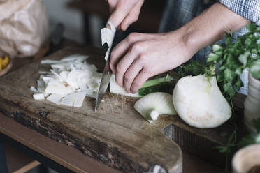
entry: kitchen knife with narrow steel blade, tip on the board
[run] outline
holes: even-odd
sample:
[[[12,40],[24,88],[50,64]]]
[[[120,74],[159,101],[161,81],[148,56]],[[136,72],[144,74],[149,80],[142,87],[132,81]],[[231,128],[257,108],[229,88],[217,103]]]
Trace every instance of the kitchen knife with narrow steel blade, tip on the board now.
[[[120,43],[120,41],[122,41],[124,39],[124,32],[121,30],[117,30],[115,31],[115,35],[113,37],[113,42],[112,42],[112,46],[109,49],[108,48],[108,59],[106,61],[106,66],[103,70],[103,75],[102,75],[102,79],[101,79],[101,83],[99,86],[99,93],[98,96],[96,98],[96,106],[95,106],[95,112],[96,110],[99,108],[99,105],[101,103],[101,100],[103,98],[103,96],[105,96],[106,93],[106,89],[108,89],[108,84],[110,82],[110,77],[112,75],[112,71],[110,70],[109,67],[109,62],[110,62],[110,56],[111,56],[111,50],[113,50],[113,48]]]

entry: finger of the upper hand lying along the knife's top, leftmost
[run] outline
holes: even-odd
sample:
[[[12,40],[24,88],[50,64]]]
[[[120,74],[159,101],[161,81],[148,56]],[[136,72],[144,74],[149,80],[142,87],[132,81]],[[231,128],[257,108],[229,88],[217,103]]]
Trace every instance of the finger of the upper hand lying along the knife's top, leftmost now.
[[[108,21],[112,22],[115,27],[118,27],[136,3],[136,1],[129,1],[129,3],[118,1],[117,6],[110,15]]]

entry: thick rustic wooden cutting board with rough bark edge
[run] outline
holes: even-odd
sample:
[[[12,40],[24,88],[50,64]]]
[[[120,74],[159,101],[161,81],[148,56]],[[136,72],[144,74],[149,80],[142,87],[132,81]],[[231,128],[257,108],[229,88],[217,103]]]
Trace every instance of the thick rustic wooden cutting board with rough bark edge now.
[[[101,70],[105,64],[101,50],[91,47],[66,47],[45,59],[71,54],[89,55],[88,63]],[[233,131],[231,124],[198,129],[178,116],[161,116],[153,125],[133,109],[137,98],[108,92],[96,113],[94,98],[86,97],[82,107],[34,100],[29,87],[36,87],[39,70],[46,69],[36,61],[1,78],[0,112],[123,172],[152,172],[158,167],[162,172],[182,172],[178,144],[200,158],[224,165],[224,157],[212,147],[226,144]],[[236,109],[240,116],[243,107]]]

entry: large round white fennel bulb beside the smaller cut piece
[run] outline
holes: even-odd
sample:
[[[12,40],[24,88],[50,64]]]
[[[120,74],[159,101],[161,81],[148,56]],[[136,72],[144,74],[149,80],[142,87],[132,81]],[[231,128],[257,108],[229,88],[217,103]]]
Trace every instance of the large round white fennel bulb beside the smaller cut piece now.
[[[196,128],[215,128],[231,117],[231,107],[217,87],[216,77],[182,77],[173,90],[180,118]]]

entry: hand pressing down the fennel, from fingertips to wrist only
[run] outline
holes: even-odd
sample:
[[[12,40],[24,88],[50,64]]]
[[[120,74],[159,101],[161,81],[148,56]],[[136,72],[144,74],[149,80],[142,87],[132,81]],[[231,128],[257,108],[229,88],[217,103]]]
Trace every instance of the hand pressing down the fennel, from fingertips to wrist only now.
[[[113,49],[110,68],[117,84],[127,92],[136,93],[149,77],[185,63],[193,54],[179,31],[131,33]]]

